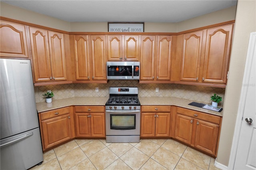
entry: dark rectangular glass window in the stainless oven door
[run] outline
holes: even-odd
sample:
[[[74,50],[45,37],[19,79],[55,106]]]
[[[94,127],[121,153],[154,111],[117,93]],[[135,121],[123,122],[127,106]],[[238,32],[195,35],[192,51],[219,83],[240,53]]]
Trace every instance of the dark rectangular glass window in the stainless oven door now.
[[[131,130],[136,129],[136,115],[110,115],[110,129]]]

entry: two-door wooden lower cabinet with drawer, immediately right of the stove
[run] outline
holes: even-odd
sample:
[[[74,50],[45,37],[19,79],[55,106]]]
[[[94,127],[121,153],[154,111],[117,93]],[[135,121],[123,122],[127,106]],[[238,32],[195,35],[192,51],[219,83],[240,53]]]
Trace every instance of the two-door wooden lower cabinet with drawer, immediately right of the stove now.
[[[140,127],[141,137],[169,136],[170,106],[142,106]]]

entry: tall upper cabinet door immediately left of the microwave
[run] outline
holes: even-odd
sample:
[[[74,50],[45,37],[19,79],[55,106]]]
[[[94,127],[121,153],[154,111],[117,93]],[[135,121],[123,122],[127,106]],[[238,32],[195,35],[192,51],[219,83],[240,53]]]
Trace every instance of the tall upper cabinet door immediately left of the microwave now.
[[[104,35],[91,36],[91,80],[106,80],[106,48]]]

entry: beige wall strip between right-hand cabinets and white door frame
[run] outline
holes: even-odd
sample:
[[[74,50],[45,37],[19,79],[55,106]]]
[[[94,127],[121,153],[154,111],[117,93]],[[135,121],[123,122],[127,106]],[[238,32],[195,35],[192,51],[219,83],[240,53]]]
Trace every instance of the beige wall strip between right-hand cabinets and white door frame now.
[[[224,99],[220,143],[216,159],[218,163],[225,166],[228,166],[230,157],[246,53],[251,32],[256,32],[256,1],[238,0],[228,83]]]

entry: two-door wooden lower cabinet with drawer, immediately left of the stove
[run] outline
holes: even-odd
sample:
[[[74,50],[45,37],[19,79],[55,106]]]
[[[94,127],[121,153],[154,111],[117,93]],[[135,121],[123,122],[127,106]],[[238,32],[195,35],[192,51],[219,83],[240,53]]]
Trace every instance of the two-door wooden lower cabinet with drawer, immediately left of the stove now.
[[[76,137],[106,137],[104,106],[75,106]]]

